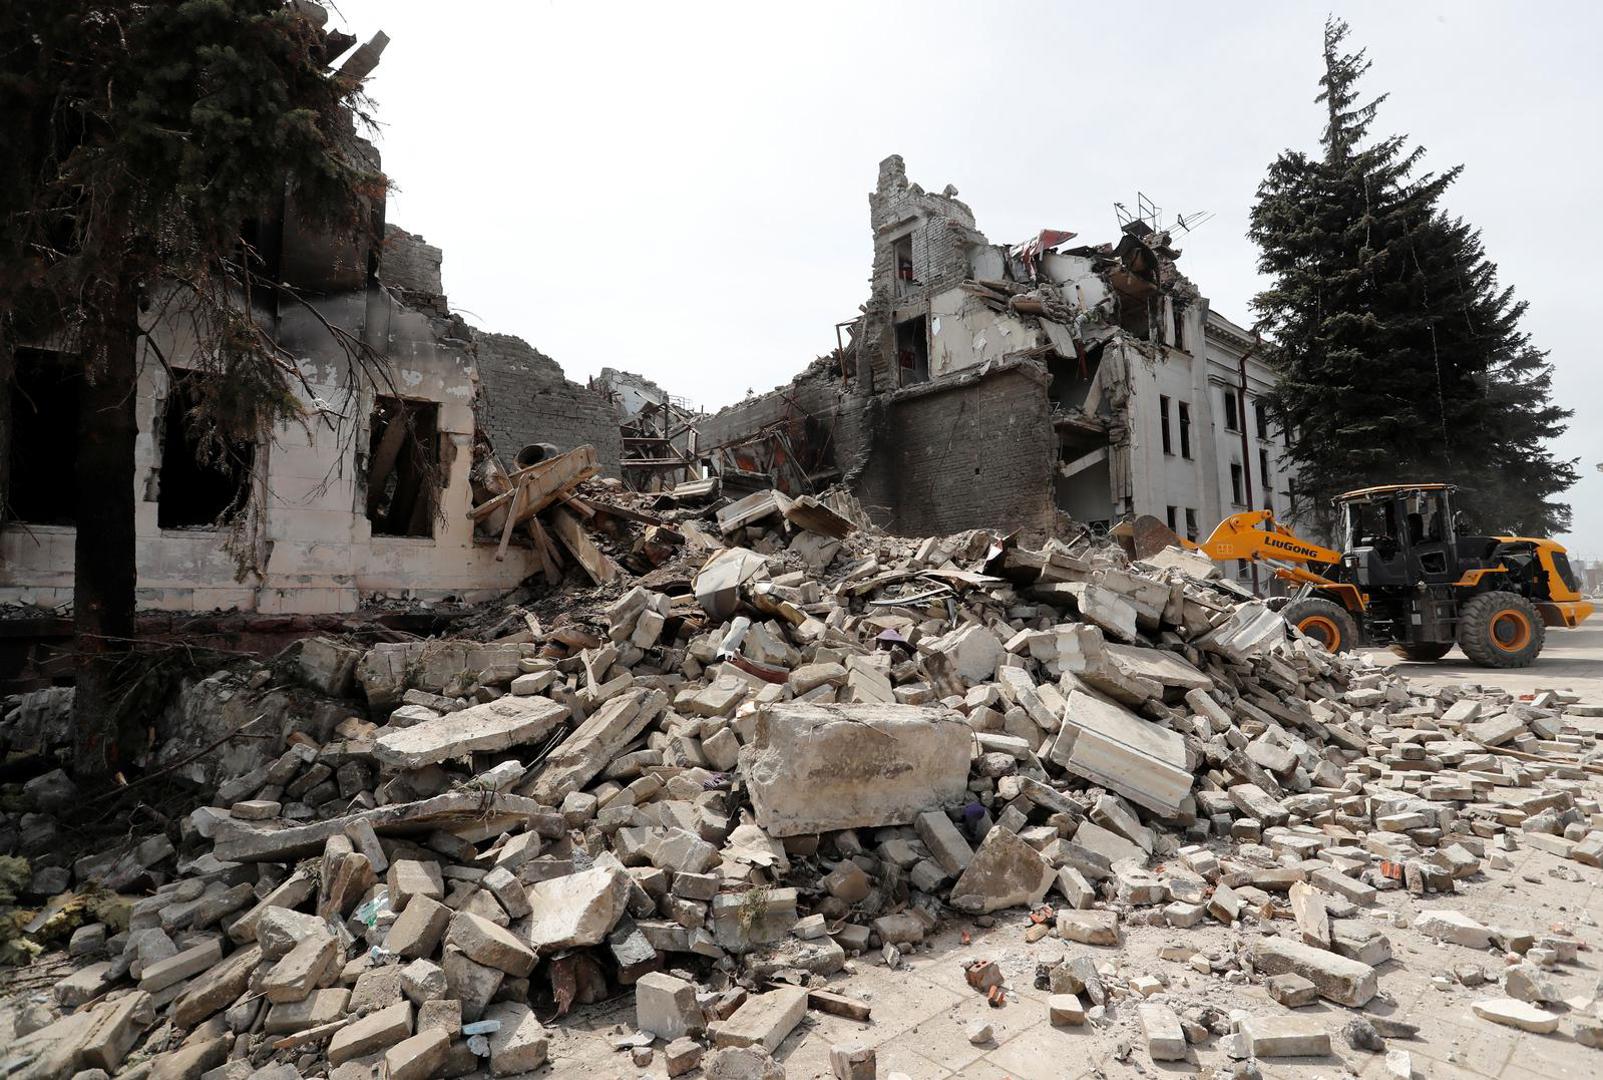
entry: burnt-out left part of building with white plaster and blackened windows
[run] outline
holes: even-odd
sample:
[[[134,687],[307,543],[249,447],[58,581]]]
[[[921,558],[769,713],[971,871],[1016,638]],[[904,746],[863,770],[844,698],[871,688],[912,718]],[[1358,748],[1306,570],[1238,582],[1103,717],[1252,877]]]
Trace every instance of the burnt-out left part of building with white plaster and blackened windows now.
[[[197,455],[197,370],[184,312],[152,327],[139,373],[138,604],[146,611],[353,612],[373,596],[481,599],[532,570],[532,548],[497,558],[474,535],[470,471],[487,437],[513,466],[524,444],[590,444],[617,473],[619,417],[519,338],[450,311],[441,250],[394,226],[370,250],[295,216],[260,223],[277,280],[306,304],[258,309],[305,377],[301,426],[240,447],[228,468]],[[370,351],[370,377],[337,335]],[[155,348],[170,361],[170,378]],[[48,348],[22,349],[8,452],[11,519],[0,529],[0,602],[72,599],[75,391]],[[46,468],[48,466],[48,468]]]

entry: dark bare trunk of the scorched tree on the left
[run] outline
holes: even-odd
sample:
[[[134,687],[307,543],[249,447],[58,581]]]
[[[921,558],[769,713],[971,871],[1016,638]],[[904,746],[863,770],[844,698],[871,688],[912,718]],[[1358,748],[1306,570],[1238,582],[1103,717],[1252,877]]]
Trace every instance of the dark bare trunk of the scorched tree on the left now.
[[[115,668],[133,638],[138,284],[120,277],[111,300],[99,356],[85,359],[72,583],[74,772],[101,782],[122,768]]]

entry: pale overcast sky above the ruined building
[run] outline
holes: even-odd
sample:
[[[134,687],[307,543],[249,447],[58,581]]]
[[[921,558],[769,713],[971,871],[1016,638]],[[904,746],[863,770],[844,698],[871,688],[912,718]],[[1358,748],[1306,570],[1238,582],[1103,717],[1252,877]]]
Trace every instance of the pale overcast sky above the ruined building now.
[[[867,298],[886,154],[994,242],[1111,239],[1138,191],[1212,212],[1180,266],[1247,322],[1249,207],[1276,152],[1316,146],[1332,8],[1391,95],[1375,133],[1465,165],[1446,205],[1531,303],[1576,410],[1566,540],[1603,558],[1603,5],[338,0],[337,22],[393,38],[390,221],[444,248],[452,306],[569,378],[620,367],[715,409],[789,381]]]

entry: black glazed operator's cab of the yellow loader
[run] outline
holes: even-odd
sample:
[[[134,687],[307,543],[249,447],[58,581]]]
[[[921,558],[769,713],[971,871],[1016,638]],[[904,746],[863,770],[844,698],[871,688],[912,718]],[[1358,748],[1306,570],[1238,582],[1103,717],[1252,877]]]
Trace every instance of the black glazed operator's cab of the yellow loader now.
[[[1388,484],[1340,495],[1342,567],[1359,588],[1446,585],[1459,577],[1452,489]]]

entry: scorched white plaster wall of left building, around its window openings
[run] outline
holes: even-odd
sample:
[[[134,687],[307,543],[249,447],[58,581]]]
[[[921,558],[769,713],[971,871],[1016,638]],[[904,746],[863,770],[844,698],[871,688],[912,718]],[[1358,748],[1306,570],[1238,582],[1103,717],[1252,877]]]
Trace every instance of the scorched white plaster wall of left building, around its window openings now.
[[[239,609],[273,614],[356,611],[375,593],[484,599],[535,569],[532,551],[511,548],[495,562],[495,542],[476,540],[466,511],[473,463],[471,356],[438,341],[428,319],[385,293],[345,295],[319,312],[353,328],[377,349],[388,385],[353,377],[343,354],[311,312],[287,311],[279,340],[298,357],[308,388],[308,423],[285,425],[256,449],[256,494],[231,529],[157,527],[160,447],[157,409],[167,373],[154,357],[139,372],[136,442],[138,604],[147,611]],[[159,340],[176,365],[192,354],[184,325],[170,319]],[[375,393],[439,402],[447,486],[434,535],[373,537],[359,492]],[[75,530],[13,524],[0,530],[0,602],[58,606],[71,601]]]

